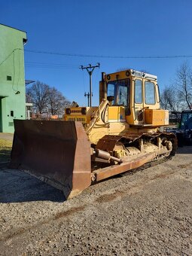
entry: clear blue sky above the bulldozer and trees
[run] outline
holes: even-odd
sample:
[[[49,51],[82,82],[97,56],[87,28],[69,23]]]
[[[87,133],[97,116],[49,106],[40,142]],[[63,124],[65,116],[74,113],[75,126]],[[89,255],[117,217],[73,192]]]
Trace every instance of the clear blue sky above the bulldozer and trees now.
[[[0,23],[27,32],[26,79],[54,86],[80,105],[87,104],[84,92],[89,90],[86,70],[78,69],[81,65],[100,62],[93,72],[93,105],[98,105],[101,72],[146,70],[158,76],[162,89],[186,60],[99,56],[192,55],[190,0],[7,0],[1,3]],[[187,62],[191,65],[192,58]]]

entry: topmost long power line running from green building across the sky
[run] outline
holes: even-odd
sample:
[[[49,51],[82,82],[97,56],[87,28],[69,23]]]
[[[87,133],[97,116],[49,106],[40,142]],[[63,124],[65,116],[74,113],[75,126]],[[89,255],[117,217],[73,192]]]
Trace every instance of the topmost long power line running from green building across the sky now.
[[[75,54],[75,53],[56,53],[49,51],[41,50],[26,50],[30,53],[43,53],[50,55],[59,55],[59,56],[75,56],[75,57],[90,57],[90,58],[105,58],[105,59],[175,59],[175,58],[192,58],[190,54],[181,54],[181,55],[151,55],[151,56],[118,56],[118,55],[92,55],[92,54]]]

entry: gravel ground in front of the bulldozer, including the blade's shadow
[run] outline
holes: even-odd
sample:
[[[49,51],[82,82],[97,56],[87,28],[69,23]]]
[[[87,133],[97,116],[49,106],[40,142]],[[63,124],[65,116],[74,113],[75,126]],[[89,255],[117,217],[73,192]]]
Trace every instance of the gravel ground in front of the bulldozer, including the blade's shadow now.
[[[192,147],[69,201],[0,170],[0,255],[192,255]]]

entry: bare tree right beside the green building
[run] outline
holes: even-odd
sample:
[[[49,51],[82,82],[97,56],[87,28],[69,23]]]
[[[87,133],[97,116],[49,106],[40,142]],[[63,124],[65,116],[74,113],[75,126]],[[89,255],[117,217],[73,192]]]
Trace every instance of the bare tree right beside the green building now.
[[[46,112],[47,96],[49,94],[49,86],[47,84],[36,81],[32,87],[26,90],[26,100],[33,103],[33,108],[38,114]]]

